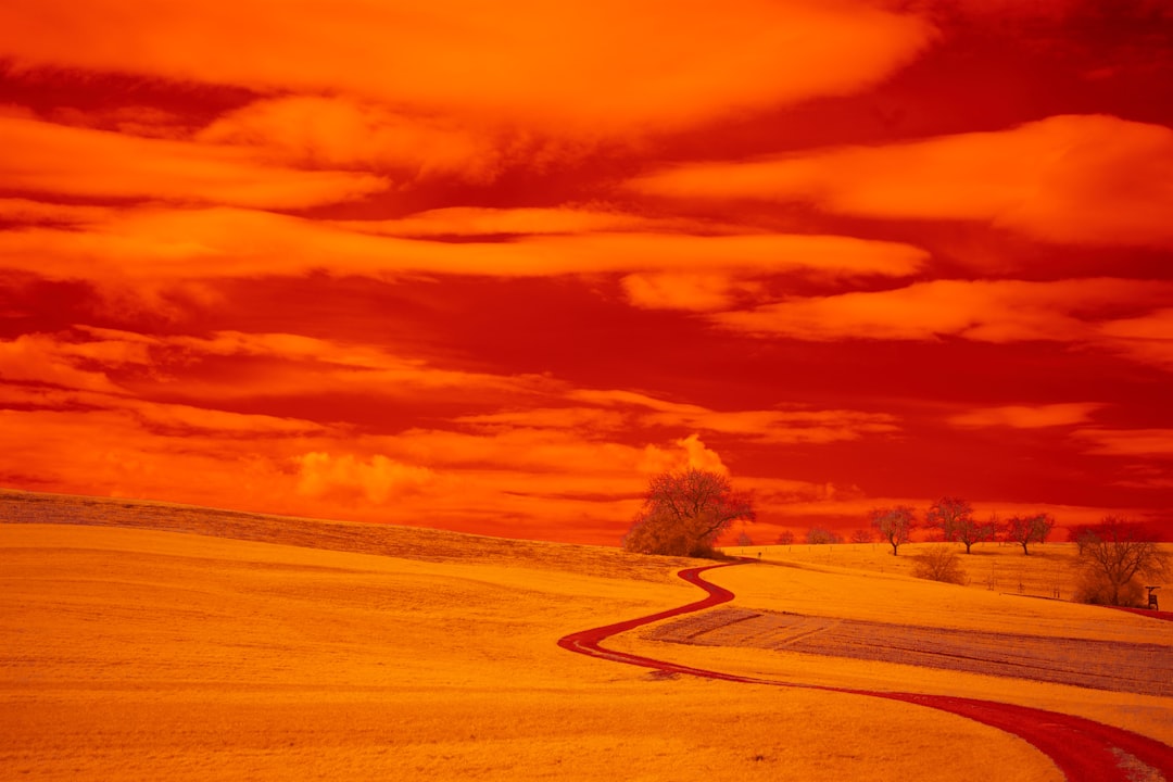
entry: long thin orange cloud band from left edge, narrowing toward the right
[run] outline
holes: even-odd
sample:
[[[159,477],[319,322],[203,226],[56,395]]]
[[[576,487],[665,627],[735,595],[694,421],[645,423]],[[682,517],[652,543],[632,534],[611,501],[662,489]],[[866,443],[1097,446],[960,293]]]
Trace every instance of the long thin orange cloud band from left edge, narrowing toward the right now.
[[[22,213],[29,210],[23,209]],[[839,236],[602,232],[448,243],[377,236],[316,220],[240,209],[133,209],[81,229],[0,232],[13,268],[96,281],[190,281],[314,270],[395,274],[547,277],[649,270],[840,277],[904,276],[927,253],[895,242]]]

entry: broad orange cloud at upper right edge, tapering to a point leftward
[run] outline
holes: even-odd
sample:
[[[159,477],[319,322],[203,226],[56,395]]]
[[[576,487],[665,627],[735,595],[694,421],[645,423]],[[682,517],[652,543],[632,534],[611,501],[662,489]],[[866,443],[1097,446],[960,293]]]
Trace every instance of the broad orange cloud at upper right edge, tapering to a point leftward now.
[[[1055,116],[998,131],[698,163],[635,191],[808,202],[843,215],[982,220],[1049,242],[1173,245],[1173,130]]]

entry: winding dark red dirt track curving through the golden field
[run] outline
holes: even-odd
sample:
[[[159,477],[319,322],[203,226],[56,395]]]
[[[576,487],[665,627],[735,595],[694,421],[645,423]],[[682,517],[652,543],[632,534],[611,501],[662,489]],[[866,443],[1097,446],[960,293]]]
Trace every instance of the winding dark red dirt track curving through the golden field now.
[[[679,576],[690,584],[694,584],[707,592],[707,597],[696,603],[690,603],[677,608],[670,608],[647,617],[629,619],[626,621],[594,627],[571,633],[558,640],[558,646],[586,654],[589,657],[611,660],[613,662],[626,662],[645,668],[665,671],[670,673],[690,674],[707,679],[721,679],[725,681],[740,681],[754,685],[772,685],[777,687],[808,687],[812,689],[825,689],[855,695],[869,695],[873,698],[887,698],[890,700],[928,706],[951,714],[977,720],[1001,730],[1012,733],[1033,744],[1045,753],[1058,766],[1059,770],[1072,781],[1099,780],[1101,782],[1130,782],[1137,778],[1138,771],[1148,774],[1150,771],[1162,775],[1165,780],[1173,782],[1173,747],[1168,747],[1154,739],[1141,736],[1130,730],[1101,725],[1093,720],[1087,720],[1070,714],[1046,712],[1043,709],[1011,703],[998,703],[995,701],[983,701],[969,698],[952,698],[948,695],[925,695],[915,693],[886,693],[866,689],[850,689],[841,687],[823,687],[815,685],[799,685],[785,681],[773,681],[768,679],[757,679],[753,676],[739,676],[720,671],[706,671],[690,666],[677,665],[665,660],[653,660],[651,658],[625,652],[613,652],[605,650],[601,644],[615,635],[640,625],[646,625],[660,619],[669,619],[693,611],[701,611],[733,599],[733,593],[728,590],[711,584],[700,577],[706,570],[717,567],[728,567],[739,565],[741,562],[726,563],[723,565],[707,565],[704,567],[692,567],[680,571]],[[1147,768],[1146,768],[1147,767]],[[1152,778],[1150,775],[1148,778]]]

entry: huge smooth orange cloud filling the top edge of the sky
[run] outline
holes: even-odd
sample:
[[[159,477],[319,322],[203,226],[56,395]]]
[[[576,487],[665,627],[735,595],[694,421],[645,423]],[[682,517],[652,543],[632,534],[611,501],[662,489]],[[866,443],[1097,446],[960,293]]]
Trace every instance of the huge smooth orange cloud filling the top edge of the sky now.
[[[920,16],[867,2],[755,0],[345,0],[282,14],[262,0],[167,13],[94,0],[86,14],[67,0],[43,0],[6,5],[0,30],[0,53],[16,68],[350,94],[466,125],[579,137],[850,93],[909,62],[935,35]]]

